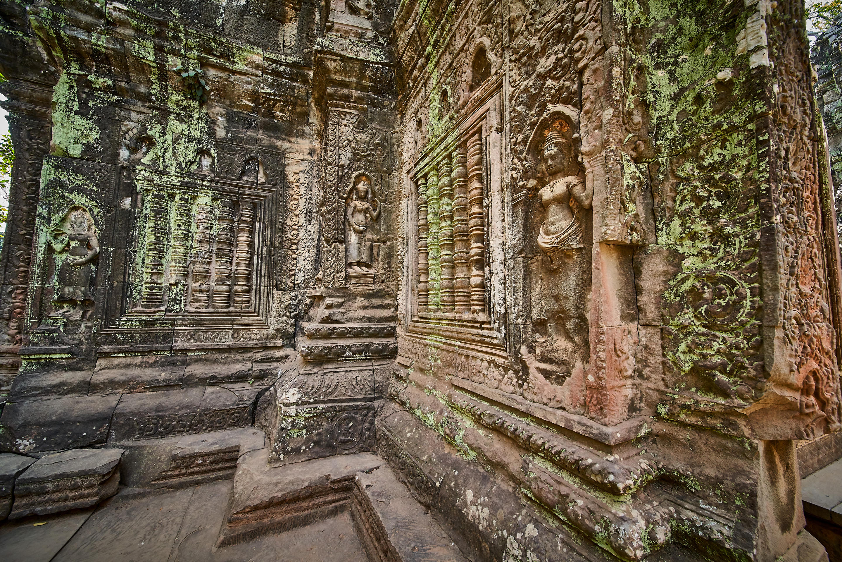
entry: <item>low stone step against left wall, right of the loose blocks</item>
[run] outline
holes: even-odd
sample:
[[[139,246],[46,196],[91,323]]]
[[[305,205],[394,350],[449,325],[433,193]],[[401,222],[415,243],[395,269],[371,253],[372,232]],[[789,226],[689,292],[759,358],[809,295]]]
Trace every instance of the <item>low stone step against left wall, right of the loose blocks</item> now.
[[[121,478],[136,488],[182,488],[232,479],[237,460],[265,446],[266,436],[257,427],[108,444],[125,450]]]

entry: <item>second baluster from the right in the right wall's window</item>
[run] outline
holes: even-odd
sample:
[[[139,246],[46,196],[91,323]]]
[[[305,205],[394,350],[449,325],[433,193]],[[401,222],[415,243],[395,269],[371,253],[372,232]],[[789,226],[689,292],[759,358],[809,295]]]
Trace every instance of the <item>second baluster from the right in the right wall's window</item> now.
[[[454,305],[457,313],[471,312],[471,272],[468,267],[468,169],[465,145],[453,151],[453,283]]]

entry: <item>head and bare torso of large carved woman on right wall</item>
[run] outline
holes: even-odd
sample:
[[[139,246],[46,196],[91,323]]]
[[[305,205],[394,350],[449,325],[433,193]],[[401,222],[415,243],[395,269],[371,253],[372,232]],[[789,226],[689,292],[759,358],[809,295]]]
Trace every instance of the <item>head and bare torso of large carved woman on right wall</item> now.
[[[582,209],[589,209],[594,198],[578,172],[573,143],[566,138],[570,126],[555,120],[546,131],[543,163],[549,183],[538,191],[538,199],[546,211],[538,234],[538,247],[554,262],[553,254],[560,249],[582,248]]]

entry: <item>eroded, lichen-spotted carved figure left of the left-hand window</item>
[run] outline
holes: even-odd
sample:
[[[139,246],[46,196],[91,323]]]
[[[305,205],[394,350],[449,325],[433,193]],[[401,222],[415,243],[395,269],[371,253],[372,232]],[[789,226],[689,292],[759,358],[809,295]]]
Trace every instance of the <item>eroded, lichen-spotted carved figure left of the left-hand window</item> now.
[[[56,314],[85,319],[93,304],[93,262],[99,256],[99,241],[88,211],[73,207],[61,224],[53,227],[51,246],[56,254],[67,251],[56,273],[58,286],[53,302],[63,306]]]

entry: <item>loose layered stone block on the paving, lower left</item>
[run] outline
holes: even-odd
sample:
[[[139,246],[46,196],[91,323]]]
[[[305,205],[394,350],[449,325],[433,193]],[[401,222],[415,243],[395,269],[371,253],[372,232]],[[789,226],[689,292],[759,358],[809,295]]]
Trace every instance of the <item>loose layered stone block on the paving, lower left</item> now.
[[[94,506],[117,493],[122,449],[72,449],[40,458],[15,481],[9,519]]]

